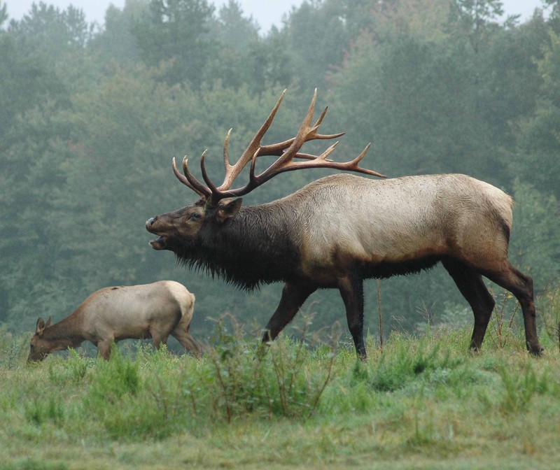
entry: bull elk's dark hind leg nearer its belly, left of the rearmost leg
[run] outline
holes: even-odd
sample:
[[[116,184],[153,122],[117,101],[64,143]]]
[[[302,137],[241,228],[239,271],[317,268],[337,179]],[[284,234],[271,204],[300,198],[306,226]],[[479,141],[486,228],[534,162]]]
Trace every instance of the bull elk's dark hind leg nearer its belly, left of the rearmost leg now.
[[[475,327],[472,329],[470,348],[479,350],[496,302],[488,292],[479,273],[463,263],[451,259],[444,261],[443,266],[455,281],[465,300],[468,301],[470,308],[472,308],[472,314],[475,315]]]

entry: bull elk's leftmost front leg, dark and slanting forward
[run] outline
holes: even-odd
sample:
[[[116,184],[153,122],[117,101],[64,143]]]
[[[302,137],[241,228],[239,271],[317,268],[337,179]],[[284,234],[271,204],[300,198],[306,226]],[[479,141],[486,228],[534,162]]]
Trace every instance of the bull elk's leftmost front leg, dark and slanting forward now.
[[[295,284],[287,282],[284,284],[280,303],[276,307],[276,311],[274,311],[270,320],[268,320],[265,334],[262,335],[262,342],[268,343],[269,341],[273,341],[283,328],[294,318],[305,299],[316,290],[316,285],[309,285],[306,283]]]

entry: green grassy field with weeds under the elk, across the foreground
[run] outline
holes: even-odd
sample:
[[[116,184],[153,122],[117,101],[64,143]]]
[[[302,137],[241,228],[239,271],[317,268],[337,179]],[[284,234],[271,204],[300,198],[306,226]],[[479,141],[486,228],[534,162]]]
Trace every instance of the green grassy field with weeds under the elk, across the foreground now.
[[[365,363],[286,338],[260,355],[222,327],[199,360],[125,346],[27,365],[29,336],[4,336],[0,469],[560,468],[544,331],[541,358],[494,324],[476,354],[440,328],[370,338]]]

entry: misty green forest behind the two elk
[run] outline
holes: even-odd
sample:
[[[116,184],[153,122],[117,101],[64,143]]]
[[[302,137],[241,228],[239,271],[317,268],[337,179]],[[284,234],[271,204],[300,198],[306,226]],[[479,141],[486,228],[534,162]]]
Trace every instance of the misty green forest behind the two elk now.
[[[521,22],[499,0],[309,0],[262,34],[235,0],[219,10],[127,0],[104,24],[48,2],[16,21],[0,1],[0,325],[31,332],[38,316],[60,320],[101,287],[172,279],[196,295],[200,341],[225,313],[262,328],[281,285],[243,292],[189,271],[151,249],[144,224],[197,199],[173,157],[198,162],[208,149],[220,180],[228,129],[234,159],[284,89],[265,143],[295,135],[317,89],[317,109],[329,109],[321,130],[346,132],[332,159],[371,142],[362,166],[385,175],[467,173],[502,188],[516,201],[513,264],[538,296],[557,289],[560,1],[542,8]],[[246,204],[330,173],[284,173]],[[378,305],[386,333],[414,332],[426,316],[472,322],[441,267],[365,290],[373,335]],[[303,310],[312,329],[346,331],[338,292],[316,292]]]

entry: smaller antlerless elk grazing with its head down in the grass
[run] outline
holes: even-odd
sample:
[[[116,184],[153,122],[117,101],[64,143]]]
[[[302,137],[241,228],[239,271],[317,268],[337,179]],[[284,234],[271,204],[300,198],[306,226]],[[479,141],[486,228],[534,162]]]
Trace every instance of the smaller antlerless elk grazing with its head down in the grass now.
[[[46,323],[39,318],[27,361],[42,361],[50,352],[76,348],[86,340],[109,359],[113,341],[152,338],[159,348],[167,345],[169,335],[198,356],[200,346],[189,333],[194,306],[195,296],[173,280],[104,287],[54,325],[50,318]]]

